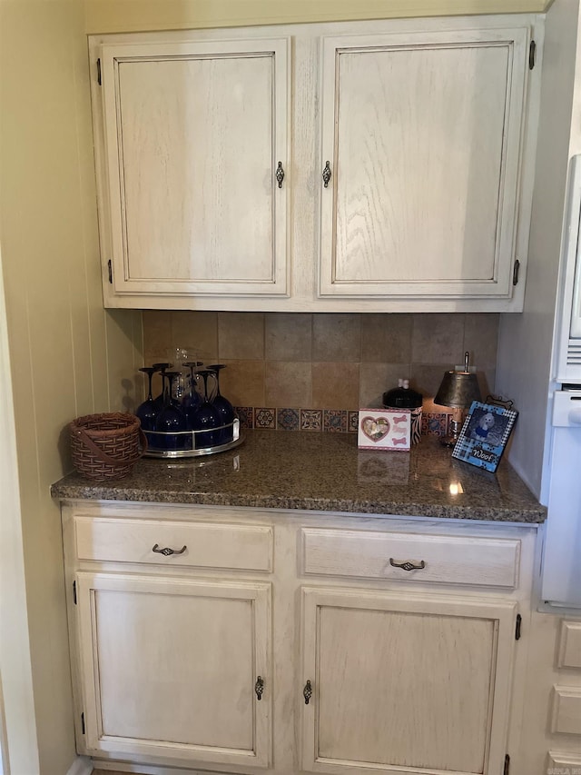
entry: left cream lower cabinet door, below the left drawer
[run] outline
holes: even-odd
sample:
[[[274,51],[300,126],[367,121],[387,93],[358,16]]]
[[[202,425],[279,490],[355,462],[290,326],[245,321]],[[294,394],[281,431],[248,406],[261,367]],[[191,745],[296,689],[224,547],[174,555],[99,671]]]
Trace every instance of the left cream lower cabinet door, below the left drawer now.
[[[271,585],[76,574],[84,753],[264,768]]]

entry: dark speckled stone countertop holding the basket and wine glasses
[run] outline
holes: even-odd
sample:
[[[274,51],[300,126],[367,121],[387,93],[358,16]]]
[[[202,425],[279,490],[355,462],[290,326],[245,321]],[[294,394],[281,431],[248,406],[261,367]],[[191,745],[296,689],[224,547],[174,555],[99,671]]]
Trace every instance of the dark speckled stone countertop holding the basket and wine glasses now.
[[[205,457],[142,459],[119,480],[74,472],[52,487],[63,501],[200,503],[261,509],[544,522],[546,509],[503,459],[496,473],[451,458],[435,437],[411,452],[359,450],[355,433],[246,431]]]

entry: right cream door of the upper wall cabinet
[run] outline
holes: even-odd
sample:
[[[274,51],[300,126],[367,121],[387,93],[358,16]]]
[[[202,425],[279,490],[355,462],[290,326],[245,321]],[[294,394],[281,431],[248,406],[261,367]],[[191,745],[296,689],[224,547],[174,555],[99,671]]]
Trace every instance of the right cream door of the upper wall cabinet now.
[[[510,298],[529,28],[463,24],[321,39],[320,296]]]

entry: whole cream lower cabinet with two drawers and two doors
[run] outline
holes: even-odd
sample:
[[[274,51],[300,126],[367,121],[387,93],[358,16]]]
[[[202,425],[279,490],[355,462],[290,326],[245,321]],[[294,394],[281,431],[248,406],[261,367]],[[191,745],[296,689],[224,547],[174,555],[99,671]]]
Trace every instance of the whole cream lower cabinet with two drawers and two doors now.
[[[534,527],[87,502],[63,526],[96,768],[499,775],[517,757]]]

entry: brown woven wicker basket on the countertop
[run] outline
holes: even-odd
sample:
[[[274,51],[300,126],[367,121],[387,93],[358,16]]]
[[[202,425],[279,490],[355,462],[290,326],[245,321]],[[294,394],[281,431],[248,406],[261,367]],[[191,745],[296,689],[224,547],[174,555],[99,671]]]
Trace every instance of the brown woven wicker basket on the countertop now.
[[[74,468],[90,479],[120,479],[147,450],[134,414],[86,414],[69,425]]]

